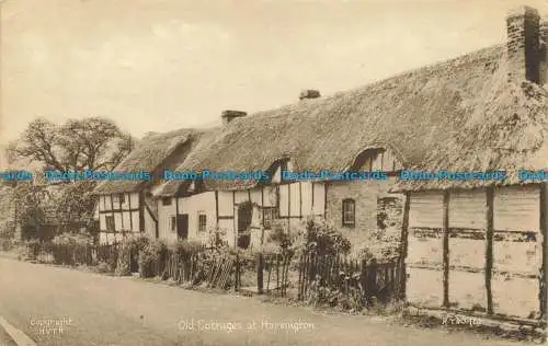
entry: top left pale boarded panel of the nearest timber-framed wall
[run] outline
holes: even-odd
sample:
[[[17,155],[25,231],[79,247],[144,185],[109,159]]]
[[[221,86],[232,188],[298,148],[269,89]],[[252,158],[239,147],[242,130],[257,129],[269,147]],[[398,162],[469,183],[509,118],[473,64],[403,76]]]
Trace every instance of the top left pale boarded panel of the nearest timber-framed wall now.
[[[412,193],[409,208],[409,227],[441,228],[443,195],[441,193]]]

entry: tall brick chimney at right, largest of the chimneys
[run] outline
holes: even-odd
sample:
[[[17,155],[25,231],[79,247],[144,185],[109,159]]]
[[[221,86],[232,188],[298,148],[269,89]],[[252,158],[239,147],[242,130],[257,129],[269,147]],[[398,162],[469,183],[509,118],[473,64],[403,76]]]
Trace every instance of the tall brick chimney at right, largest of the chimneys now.
[[[521,7],[506,16],[510,81],[540,83],[540,15]]]

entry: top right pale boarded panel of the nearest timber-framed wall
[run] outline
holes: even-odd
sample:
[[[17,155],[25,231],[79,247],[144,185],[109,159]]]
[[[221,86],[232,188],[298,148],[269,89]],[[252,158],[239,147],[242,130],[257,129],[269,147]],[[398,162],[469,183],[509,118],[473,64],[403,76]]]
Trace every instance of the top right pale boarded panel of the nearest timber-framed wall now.
[[[512,186],[494,192],[494,229],[509,231],[539,230],[538,186]]]

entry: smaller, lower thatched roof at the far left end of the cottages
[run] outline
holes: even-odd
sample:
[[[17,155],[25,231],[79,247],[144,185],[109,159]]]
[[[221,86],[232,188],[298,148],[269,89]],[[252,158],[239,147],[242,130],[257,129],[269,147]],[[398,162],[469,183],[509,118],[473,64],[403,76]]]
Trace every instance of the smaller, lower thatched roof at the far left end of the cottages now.
[[[149,134],[142,138],[137,147],[119,163],[114,171],[139,172],[140,170],[153,172],[163,169],[165,161],[183,162],[185,150],[198,136],[194,129],[179,129],[167,134]],[[138,191],[146,186],[144,181],[104,181],[93,191],[94,194],[119,194]]]

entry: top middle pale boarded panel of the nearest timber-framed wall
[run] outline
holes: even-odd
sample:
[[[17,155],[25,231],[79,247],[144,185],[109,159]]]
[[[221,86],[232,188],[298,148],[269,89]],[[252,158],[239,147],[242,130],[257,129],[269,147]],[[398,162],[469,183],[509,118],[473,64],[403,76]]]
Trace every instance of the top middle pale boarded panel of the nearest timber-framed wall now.
[[[449,227],[484,229],[487,227],[484,189],[458,191],[450,194]]]

